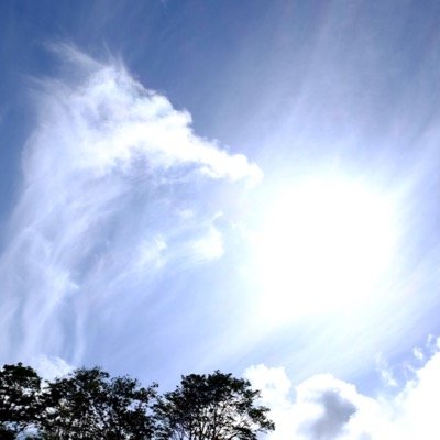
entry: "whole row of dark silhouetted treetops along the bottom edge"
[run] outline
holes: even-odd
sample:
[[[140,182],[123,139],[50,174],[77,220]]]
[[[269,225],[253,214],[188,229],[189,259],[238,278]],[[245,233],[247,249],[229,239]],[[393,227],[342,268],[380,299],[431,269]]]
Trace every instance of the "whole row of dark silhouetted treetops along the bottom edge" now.
[[[0,370],[0,439],[256,440],[275,429],[249,381],[216,371],[172,392],[101,367],[53,381],[22,363]]]

